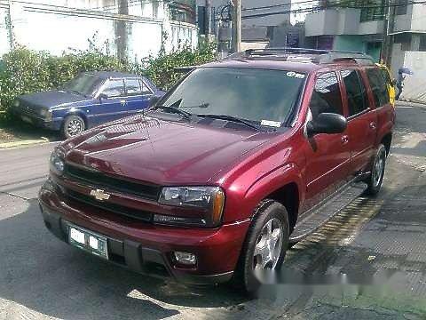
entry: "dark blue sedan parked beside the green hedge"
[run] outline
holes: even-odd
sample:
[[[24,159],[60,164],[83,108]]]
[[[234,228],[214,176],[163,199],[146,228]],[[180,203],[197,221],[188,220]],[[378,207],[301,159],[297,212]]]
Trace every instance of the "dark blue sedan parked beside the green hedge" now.
[[[21,95],[12,114],[28,124],[74,137],[99,124],[134,115],[164,92],[144,76],[88,72],[58,90]]]

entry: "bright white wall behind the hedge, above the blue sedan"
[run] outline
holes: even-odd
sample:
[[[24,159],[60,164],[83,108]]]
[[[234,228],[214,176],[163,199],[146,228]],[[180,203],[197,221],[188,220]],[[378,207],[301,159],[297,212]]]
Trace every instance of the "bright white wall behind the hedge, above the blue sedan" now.
[[[71,2],[73,3],[70,5],[75,7],[78,7],[78,4],[91,4],[91,8],[95,5],[99,5],[96,8],[105,8],[109,3],[110,6],[107,6],[109,12],[118,10],[111,5],[111,0],[96,2],[69,0],[69,3]],[[159,4],[158,1],[156,3]],[[59,5],[58,2],[55,5]],[[40,8],[44,7],[40,6]],[[85,8],[87,9],[87,6]],[[68,8],[55,12],[35,11],[27,5],[14,3],[12,6],[14,36],[19,44],[29,49],[59,55],[69,49],[88,49],[88,40],[96,35],[97,46],[102,46],[105,50],[109,48],[112,54],[127,55],[130,60],[140,60],[149,54],[156,54],[162,47],[162,41],[165,42],[165,48],[168,51],[176,49],[178,45],[189,44],[195,47],[198,43],[198,29],[192,24],[170,21],[168,12],[162,9],[162,5],[155,16],[153,16],[153,6],[146,6],[146,2],[144,6],[140,4],[134,6],[130,3],[129,13],[125,16],[98,10],[99,13],[91,11],[90,14]],[[1,20],[4,20],[2,19],[3,11],[0,8]],[[167,34],[166,38],[162,37],[163,33]],[[7,35],[6,28],[0,24],[0,54],[10,49],[7,36],[4,35]]]

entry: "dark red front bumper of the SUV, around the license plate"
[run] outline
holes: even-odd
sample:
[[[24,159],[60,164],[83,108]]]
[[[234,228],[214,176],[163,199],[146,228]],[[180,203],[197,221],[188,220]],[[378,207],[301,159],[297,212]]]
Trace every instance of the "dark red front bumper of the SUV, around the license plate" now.
[[[114,217],[68,203],[43,186],[39,202],[46,227],[68,242],[68,223],[106,236],[109,260],[141,274],[185,284],[217,284],[233,277],[249,221],[217,229],[171,228]],[[195,267],[179,266],[173,252],[197,256]]]

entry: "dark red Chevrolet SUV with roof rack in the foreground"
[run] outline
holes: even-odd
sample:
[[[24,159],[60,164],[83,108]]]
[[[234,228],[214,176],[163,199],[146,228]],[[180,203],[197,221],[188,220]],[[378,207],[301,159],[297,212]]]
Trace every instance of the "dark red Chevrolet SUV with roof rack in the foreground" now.
[[[55,148],[43,220],[138,272],[233,279],[250,292],[289,243],[379,191],[394,124],[383,73],[365,55],[244,52]]]

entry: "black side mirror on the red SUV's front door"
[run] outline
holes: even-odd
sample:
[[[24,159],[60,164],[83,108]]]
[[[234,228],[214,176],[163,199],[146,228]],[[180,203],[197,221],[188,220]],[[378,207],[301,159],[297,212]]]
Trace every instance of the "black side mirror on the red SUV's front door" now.
[[[322,113],[315,119],[310,121],[307,126],[308,136],[312,137],[318,133],[334,134],[343,133],[348,126],[348,121],[344,116]]]

